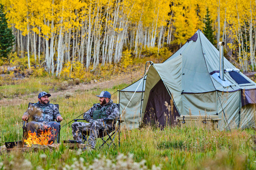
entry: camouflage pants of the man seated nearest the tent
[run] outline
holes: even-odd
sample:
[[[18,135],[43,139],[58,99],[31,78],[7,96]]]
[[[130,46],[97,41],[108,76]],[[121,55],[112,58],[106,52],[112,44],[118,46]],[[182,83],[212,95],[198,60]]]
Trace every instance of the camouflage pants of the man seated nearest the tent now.
[[[93,120],[91,123],[85,123],[85,122],[74,122],[72,123],[72,135],[74,137],[74,140],[77,141],[83,141],[83,134],[86,134],[86,132],[90,134],[88,143],[89,145],[94,149],[96,144],[96,138],[99,135],[99,129],[104,128],[103,122],[99,122],[96,120]],[[109,124],[106,124],[108,128],[111,128],[112,126]]]

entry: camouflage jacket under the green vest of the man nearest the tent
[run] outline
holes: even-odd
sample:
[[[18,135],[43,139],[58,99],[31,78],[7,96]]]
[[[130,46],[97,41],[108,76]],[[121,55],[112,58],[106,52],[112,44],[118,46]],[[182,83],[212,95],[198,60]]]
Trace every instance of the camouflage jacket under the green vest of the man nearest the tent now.
[[[97,109],[97,107],[101,107],[100,110],[104,109],[105,107],[108,107],[106,108],[106,115],[107,117],[105,117],[104,119],[118,119],[119,117],[119,109],[118,109],[118,106],[116,105],[116,103],[113,103],[113,100],[110,99],[110,101],[101,106],[100,103],[97,103],[97,104],[94,104],[93,107],[91,107],[87,112],[84,113],[84,119],[87,121],[87,122],[90,122],[93,120],[92,119],[92,116],[93,116],[93,112]],[[96,119],[97,121],[103,121],[103,118],[101,119]],[[115,124],[116,121],[112,122],[112,121],[106,121],[106,123],[108,124]]]

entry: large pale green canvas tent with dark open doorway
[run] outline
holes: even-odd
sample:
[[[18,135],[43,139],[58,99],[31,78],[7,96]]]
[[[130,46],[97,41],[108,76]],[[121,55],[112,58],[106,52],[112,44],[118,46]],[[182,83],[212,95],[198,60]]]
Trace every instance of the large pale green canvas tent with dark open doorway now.
[[[234,68],[224,58],[224,69]],[[220,129],[254,124],[254,103],[256,83],[243,73],[226,72],[222,81],[219,76],[219,51],[204,36],[197,32],[164,63],[151,64],[143,87],[143,103],[140,115],[140,92],[132,94],[140,80],[124,88],[119,93],[120,111],[124,110],[127,126],[136,128],[138,122],[159,122],[165,125],[175,123],[175,116],[182,115],[219,115]],[[171,96],[169,95],[171,94]],[[173,112],[168,117],[165,101],[174,101]],[[127,102],[128,101],[128,102]],[[164,116],[166,115],[166,116]],[[150,120],[149,120],[150,118]]]

